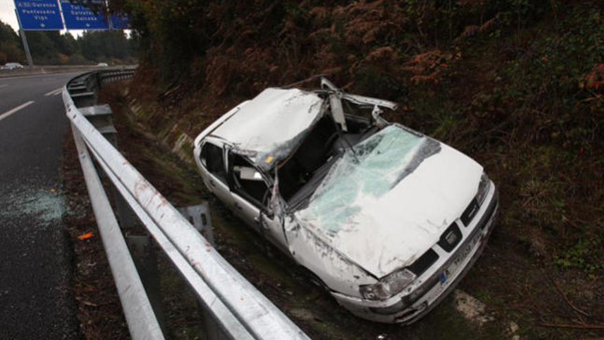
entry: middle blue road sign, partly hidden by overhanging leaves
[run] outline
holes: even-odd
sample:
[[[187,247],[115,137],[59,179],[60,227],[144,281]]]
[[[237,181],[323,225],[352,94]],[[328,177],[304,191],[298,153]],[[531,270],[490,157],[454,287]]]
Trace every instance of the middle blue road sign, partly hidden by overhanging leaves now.
[[[97,13],[91,8],[69,0],[61,0],[63,18],[67,30],[108,30],[109,21],[105,15],[104,1],[93,0],[93,5],[98,5]]]

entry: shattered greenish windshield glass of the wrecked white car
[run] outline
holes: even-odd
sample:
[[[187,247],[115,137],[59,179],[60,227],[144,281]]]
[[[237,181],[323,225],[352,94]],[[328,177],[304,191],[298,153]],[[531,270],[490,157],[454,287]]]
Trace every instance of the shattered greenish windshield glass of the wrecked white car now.
[[[387,126],[338,159],[298,216],[335,234],[361,212],[364,199],[380,198],[439,150],[438,141]]]

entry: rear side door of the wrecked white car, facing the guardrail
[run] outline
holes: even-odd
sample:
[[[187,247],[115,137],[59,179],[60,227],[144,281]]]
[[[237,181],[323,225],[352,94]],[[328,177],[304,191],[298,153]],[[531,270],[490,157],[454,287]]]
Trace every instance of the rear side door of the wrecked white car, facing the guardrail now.
[[[224,148],[211,139],[202,142],[199,161],[202,178],[209,190],[225,205],[232,207],[233,199],[227,184],[227,167],[224,163]]]

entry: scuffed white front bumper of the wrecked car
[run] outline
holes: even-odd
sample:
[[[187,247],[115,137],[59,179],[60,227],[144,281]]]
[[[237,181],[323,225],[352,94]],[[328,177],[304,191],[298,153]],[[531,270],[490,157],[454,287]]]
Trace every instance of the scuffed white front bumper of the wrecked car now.
[[[499,208],[498,191],[492,182],[485,202],[488,204],[480,207],[472,223],[464,228],[467,234],[463,242],[402,293],[384,301],[360,299],[335,292],[332,295],[340,305],[364,319],[388,324],[412,324],[417,321],[453,291],[487,245]]]

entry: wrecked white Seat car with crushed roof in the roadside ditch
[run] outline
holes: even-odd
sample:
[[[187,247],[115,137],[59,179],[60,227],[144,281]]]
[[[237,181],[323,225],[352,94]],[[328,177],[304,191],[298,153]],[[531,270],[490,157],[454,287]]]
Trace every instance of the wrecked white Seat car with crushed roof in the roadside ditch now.
[[[271,88],[195,139],[211,192],[355,315],[410,324],[485,247],[498,193],[483,167],[380,113],[396,105]]]

